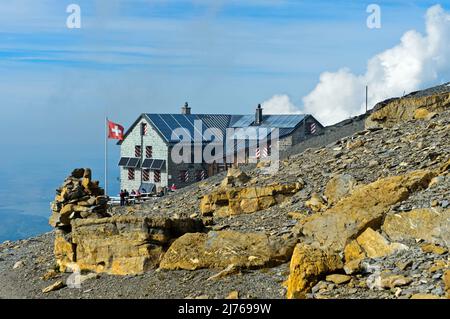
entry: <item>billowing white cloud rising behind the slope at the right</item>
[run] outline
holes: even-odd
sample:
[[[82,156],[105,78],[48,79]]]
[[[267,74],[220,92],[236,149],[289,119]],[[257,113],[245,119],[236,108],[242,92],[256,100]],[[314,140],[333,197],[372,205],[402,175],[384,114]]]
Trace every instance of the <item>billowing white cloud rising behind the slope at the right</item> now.
[[[386,98],[436,83],[450,75],[449,39],[450,14],[435,5],[426,13],[425,35],[406,32],[398,45],[368,61],[365,74],[345,68],[322,73],[319,84],[303,98],[303,111],[332,124],[364,112],[366,84],[371,108]]]

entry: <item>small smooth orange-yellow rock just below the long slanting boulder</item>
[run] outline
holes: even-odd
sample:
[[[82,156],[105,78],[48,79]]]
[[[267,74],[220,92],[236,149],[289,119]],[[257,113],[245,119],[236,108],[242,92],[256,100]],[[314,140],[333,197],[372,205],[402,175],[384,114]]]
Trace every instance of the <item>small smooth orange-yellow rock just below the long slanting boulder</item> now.
[[[356,241],[370,258],[384,257],[391,255],[396,251],[407,249],[407,247],[402,244],[390,244],[386,238],[372,228],[367,228],[359,235]]]

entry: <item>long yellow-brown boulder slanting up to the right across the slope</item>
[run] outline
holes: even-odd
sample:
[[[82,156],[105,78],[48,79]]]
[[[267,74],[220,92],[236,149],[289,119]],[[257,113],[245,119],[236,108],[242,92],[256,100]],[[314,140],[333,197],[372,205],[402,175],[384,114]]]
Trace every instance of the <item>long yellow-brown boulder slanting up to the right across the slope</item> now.
[[[379,229],[392,205],[427,187],[432,177],[420,170],[360,186],[332,208],[301,220],[293,231],[322,248],[343,251],[366,228]]]

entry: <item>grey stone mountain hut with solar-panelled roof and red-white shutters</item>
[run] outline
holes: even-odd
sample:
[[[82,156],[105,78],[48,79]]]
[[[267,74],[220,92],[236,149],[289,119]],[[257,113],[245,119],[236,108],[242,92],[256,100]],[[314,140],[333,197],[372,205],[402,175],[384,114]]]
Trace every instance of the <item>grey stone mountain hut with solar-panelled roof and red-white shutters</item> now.
[[[252,157],[257,160],[267,157],[270,155],[270,135],[274,129],[278,129],[278,147],[283,151],[319,134],[323,128],[311,115],[266,115],[260,105],[255,115],[192,114],[187,103],[182,107],[181,114],[144,113],[127,130],[123,141],[118,143],[121,146],[120,186],[128,191],[151,191],[173,184],[177,188],[184,187],[221,172],[234,163],[247,162]],[[241,130],[244,135],[232,135],[236,149],[230,156],[225,146],[230,141],[231,129]],[[260,148],[256,142],[256,151],[250,147],[251,142],[240,144],[241,139],[252,139],[245,136],[245,132],[251,129],[258,132],[257,139],[261,139],[259,132],[264,131],[269,143]],[[214,150],[219,150],[217,154],[212,152],[215,156],[212,162],[194,155],[195,150],[200,150],[202,154],[208,144],[220,145]],[[244,147],[239,149],[237,144]],[[184,148],[179,151],[181,146]],[[186,149],[188,152],[185,152]],[[183,161],[175,159],[173,152],[182,156]],[[243,152],[243,160],[237,156],[239,152]]]

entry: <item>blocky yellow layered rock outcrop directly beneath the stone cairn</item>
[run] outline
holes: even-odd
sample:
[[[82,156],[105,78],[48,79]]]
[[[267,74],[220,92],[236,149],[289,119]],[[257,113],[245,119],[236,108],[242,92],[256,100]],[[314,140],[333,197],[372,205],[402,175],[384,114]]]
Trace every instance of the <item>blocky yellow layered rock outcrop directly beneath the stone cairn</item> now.
[[[78,219],[70,234],[57,233],[55,257],[61,270],[75,263],[81,270],[115,275],[157,268],[175,238],[203,230],[200,220],[115,216]]]

